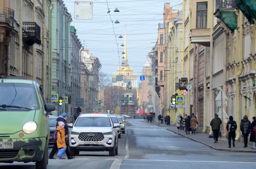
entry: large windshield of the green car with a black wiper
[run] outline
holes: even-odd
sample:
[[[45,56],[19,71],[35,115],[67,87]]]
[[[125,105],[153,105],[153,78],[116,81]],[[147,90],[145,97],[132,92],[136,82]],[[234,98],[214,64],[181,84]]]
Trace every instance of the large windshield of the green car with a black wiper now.
[[[34,85],[0,83],[0,96],[0,106],[6,105],[4,110],[37,110],[40,108]]]

